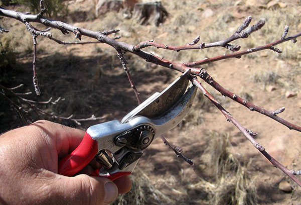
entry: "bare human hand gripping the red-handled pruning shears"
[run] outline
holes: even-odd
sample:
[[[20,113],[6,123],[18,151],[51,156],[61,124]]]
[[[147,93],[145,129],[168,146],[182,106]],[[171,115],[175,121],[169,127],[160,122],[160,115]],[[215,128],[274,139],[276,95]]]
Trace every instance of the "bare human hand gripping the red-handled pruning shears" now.
[[[58,174],[58,161],[79,145],[84,134],[37,121],[1,135],[0,204],[107,204],[118,192],[129,191],[128,176],[112,182],[87,174]]]

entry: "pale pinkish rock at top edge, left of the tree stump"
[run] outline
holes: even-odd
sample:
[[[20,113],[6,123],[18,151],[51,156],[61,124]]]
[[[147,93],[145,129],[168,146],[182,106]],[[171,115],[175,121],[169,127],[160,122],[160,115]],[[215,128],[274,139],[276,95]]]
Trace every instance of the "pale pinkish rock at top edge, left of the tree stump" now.
[[[118,0],[99,0],[96,5],[96,17],[108,12],[119,12],[122,9],[122,2]]]

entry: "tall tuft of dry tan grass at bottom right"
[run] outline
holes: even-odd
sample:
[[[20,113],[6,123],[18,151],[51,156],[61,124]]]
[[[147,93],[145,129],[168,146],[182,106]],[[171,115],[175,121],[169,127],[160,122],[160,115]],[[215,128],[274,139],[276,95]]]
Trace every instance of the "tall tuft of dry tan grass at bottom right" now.
[[[202,157],[213,170],[211,179],[200,179],[189,187],[208,193],[207,204],[256,204],[255,181],[248,174],[251,163],[241,163],[228,151],[229,134],[210,131]]]

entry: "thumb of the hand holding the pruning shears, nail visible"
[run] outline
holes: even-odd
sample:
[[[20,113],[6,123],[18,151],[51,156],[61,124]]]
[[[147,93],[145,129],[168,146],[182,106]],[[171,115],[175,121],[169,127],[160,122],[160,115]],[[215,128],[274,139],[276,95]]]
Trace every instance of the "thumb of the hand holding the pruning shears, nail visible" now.
[[[115,200],[118,188],[104,177],[80,174],[74,177],[58,177],[57,187],[63,204],[108,204]]]

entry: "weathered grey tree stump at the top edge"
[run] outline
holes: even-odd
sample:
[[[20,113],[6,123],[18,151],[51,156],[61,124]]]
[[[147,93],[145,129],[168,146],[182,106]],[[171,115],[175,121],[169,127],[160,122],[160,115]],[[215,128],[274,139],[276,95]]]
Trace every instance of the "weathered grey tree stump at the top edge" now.
[[[141,25],[154,24],[159,26],[168,15],[161,2],[146,2],[135,4],[132,16]]]

